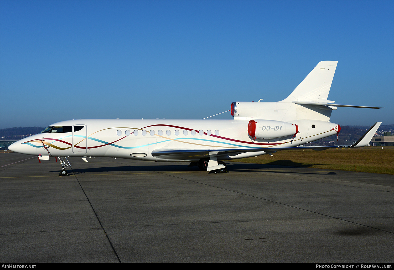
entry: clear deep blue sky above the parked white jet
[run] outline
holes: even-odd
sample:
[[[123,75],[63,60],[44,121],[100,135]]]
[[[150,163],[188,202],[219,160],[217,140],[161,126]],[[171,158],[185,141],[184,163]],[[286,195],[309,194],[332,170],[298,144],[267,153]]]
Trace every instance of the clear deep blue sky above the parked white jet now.
[[[340,125],[394,123],[393,1],[0,1],[0,127],[201,119],[322,60]],[[216,119],[230,119],[230,112]]]

